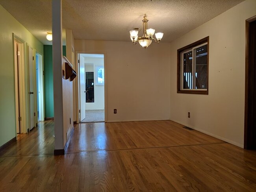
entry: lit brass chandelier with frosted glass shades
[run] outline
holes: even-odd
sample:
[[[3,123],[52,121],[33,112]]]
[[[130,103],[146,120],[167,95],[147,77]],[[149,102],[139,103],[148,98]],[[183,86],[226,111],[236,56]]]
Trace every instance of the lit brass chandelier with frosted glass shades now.
[[[139,44],[146,49],[148,46],[150,46],[153,40],[157,43],[160,43],[163,37],[163,33],[155,33],[154,29],[151,29],[151,28],[148,29],[148,19],[146,14],[143,17],[142,22],[143,22],[142,37],[138,37],[139,28],[134,28],[133,30],[130,31],[130,38],[133,44],[135,45],[137,44],[137,42],[139,42]],[[155,33],[156,39],[153,38],[154,33]]]

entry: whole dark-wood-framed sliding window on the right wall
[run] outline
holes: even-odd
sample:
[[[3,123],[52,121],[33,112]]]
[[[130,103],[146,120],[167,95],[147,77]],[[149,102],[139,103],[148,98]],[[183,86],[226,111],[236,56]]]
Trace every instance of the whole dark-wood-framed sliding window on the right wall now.
[[[209,36],[178,49],[177,93],[208,94]]]

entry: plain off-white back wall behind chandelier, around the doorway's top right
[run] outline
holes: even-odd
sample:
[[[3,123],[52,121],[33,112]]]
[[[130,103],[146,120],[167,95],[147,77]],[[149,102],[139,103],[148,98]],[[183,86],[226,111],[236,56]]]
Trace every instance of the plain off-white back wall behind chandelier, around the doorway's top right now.
[[[74,44],[77,53],[105,53],[108,122],[170,118],[169,43],[153,42],[146,50],[132,42],[75,40]]]

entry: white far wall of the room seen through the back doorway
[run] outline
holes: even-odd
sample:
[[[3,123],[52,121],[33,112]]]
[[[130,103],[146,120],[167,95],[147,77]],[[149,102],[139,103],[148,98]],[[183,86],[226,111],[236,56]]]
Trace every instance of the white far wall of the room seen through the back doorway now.
[[[96,85],[96,66],[104,66],[104,58],[84,57],[85,72],[94,72],[94,103],[85,103],[85,110],[104,109],[104,86]],[[92,63],[87,65],[86,63]]]

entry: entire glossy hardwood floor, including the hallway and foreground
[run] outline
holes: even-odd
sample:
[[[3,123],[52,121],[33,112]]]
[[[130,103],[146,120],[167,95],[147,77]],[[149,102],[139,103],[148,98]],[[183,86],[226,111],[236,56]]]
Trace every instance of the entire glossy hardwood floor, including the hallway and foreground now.
[[[54,156],[53,121],[0,151],[0,191],[256,191],[256,151],[171,121],[75,126]]]

